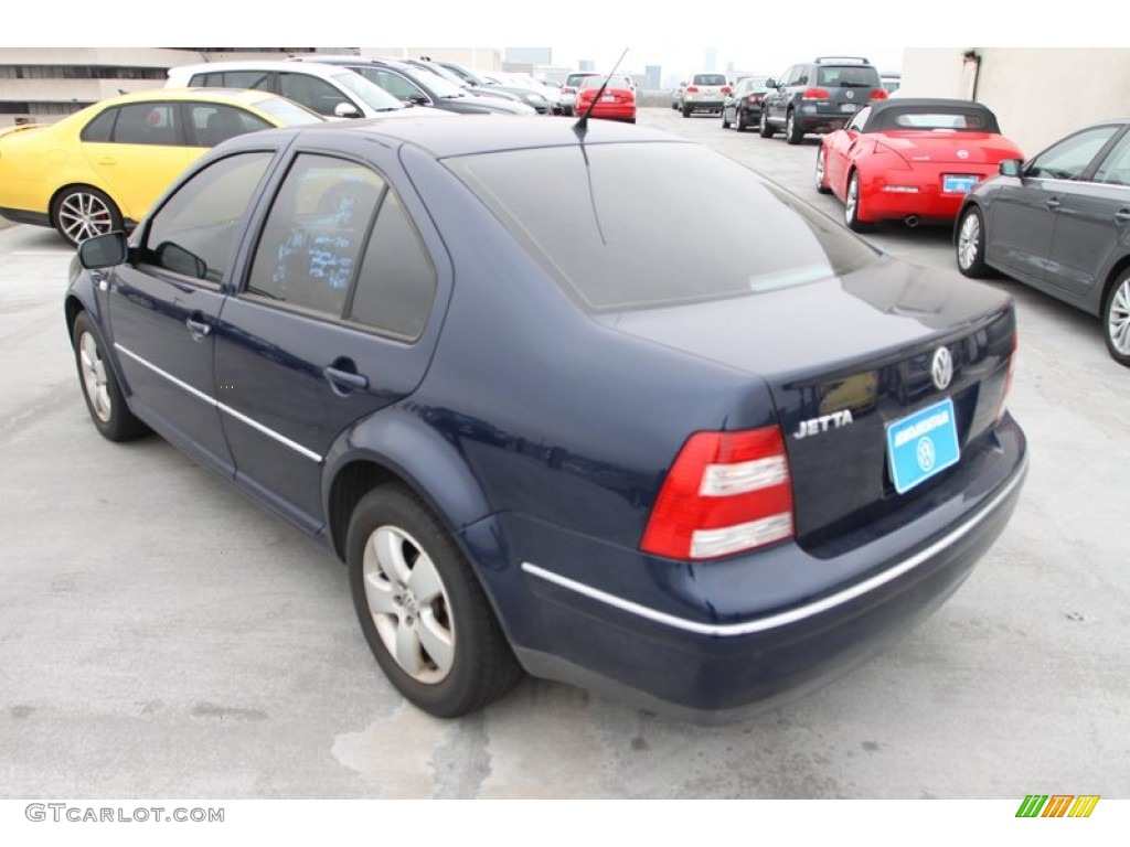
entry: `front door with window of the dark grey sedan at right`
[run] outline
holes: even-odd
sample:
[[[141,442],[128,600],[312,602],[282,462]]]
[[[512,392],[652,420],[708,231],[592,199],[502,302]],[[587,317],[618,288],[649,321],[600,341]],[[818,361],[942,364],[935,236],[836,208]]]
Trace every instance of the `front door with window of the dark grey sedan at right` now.
[[[1049,147],[1018,178],[1001,177],[986,221],[985,259],[1040,288],[1058,287],[1052,245],[1063,198],[1118,128],[1092,126]]]

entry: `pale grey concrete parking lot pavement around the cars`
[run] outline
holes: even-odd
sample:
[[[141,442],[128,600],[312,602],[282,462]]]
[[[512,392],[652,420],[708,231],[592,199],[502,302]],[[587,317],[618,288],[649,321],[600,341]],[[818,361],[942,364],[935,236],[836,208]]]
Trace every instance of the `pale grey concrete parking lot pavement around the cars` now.
[[[841,215],[811,185],[815,138],[640,122]],[[953,267],[944,228],[869,237]],[[442,722],[379,673],[332,556],[164,442],[95,433],[70,256],[0,229],[0,796],[1130,796],[1130,372],[1095,320],[992,282],[1019,307],[1020,505],[960,591],[850,676],[714,728],[534,680]]]

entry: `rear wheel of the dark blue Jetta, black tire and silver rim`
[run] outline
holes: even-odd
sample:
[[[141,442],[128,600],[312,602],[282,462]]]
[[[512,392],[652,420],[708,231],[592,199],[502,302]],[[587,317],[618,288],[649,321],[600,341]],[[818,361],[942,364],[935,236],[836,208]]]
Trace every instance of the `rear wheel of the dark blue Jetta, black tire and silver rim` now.
[[[382,486],[362,498],[346,561],[365,640],[410,702],[436,717],[460,717],[521,679],[462,551],[408,488]]]

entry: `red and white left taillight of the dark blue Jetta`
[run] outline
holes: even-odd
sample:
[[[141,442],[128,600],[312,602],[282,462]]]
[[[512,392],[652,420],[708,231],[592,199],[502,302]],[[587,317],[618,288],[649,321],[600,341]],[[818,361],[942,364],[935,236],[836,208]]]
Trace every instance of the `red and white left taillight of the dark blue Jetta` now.
[[[663,480],[640,548],[670,559],[713,559],[792,534],[780,427],[696,433]]]

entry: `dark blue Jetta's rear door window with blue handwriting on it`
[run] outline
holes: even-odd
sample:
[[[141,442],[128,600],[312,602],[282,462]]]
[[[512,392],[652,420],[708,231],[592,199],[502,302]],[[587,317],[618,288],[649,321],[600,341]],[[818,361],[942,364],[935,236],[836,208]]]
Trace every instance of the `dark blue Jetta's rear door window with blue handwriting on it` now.
[[[267,216],[247,294],[340,317],[384,187],[364,165],[298,156]]]

